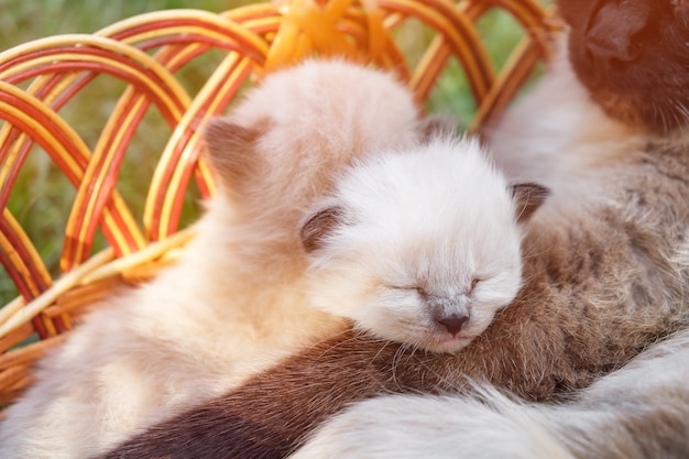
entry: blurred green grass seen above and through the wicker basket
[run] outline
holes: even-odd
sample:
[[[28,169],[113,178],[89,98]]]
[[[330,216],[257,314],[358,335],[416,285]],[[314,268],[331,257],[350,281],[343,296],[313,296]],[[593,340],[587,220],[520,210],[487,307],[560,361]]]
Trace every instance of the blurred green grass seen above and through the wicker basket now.
[[[62,33],[91,33],[124,18],[135,14],[177,8],[194,8],[214,12],[225,11],[248,1],[238,0],[0,0],[0,52],[32,40]],[[542,0],[548,4],[550,1]],[[478,23],[496,67],[501,67],[523,35],[523,29],[506,13],[494,9]],[[397,42],[412,61],[420,55],[431,34],[420,23],[409,23],[396,32]],[[217,64],[220,54],[212,53],[200,59],[193,68],[185,68],[183,84],[194,95]],[[101,77],[99,77],[101,78]],[[103,120],[122,91],[122,85],[105,77],[91,85],[78,101],[67,105],[61,113],[77,128],[86,142],[94,146]],[[78,106],[78,107],[77,107]],[[453,116],[460,128],[469,124],[475,107],[461,69],[451,64],[430,96],[428,109]],[[169,129],[150,110],[144,120],[145,135],[132,143],[122,166],[123,177],[118,189],[135,216],[142,215],[147,184],[157,157],[162,152]],[[0,165],[1,166],[1,165]],[[10,210],[34,241],[48,269],[56,273],[63,244],[63,232],[75,190],[52,165],[43,152],[32,152],[22,170],[10,199]],[[199,215],[198,193],[188,194],[181,227],[187,226]],[[94,248],[105,247],[102,238]],[[17,296],[17,289],[0,267],[0,307]]]

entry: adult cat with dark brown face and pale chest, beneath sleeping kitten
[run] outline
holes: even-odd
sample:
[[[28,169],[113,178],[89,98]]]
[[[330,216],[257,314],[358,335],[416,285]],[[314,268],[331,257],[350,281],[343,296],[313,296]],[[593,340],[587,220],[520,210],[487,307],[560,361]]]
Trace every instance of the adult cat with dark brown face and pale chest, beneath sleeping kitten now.
[[[689,4],[561,0],[560,8],[583,87],[559,62],[495,140],[496,162],[515,177],[539,178],[553,197],[524,243],[527,286],[481,338],[447,357],[352,332],[107,457],[278,458],[348,403],[456,390],[466,376],[554,400],[686,327]]]

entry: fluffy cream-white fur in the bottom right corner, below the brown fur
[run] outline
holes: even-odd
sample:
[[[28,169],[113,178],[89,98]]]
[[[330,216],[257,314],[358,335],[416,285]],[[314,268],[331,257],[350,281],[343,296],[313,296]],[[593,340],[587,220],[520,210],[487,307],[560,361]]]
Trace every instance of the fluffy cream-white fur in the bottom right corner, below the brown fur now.
[[[569,403],[387,395],[352,405],[291,459],[680,459],[689,457],[689,330],[655,345]]]

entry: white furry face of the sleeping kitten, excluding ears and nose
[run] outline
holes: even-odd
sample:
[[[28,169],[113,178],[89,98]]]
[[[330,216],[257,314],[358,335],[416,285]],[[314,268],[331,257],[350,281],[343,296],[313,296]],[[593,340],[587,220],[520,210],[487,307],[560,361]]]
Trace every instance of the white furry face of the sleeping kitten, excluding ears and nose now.
[[[522,282],[510,188],[478,142],[436,139],[351,167],[325,207],[342,222],[308,271],[316,305],[383,339],[448,352],[480,335]],[[472,281],[475,285],[472,285]],[[468,316],[451,335],[438,316]]]

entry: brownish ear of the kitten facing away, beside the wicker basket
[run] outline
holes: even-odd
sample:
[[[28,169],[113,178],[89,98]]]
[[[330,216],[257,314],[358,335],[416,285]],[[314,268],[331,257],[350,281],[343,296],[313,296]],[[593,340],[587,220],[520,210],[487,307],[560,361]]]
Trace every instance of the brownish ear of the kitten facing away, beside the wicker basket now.
[[[260,174],[255,142],[263,132],[263,129],[244,128],[221,117],[206,124],[206,159],[227,188],[237,190]]]

